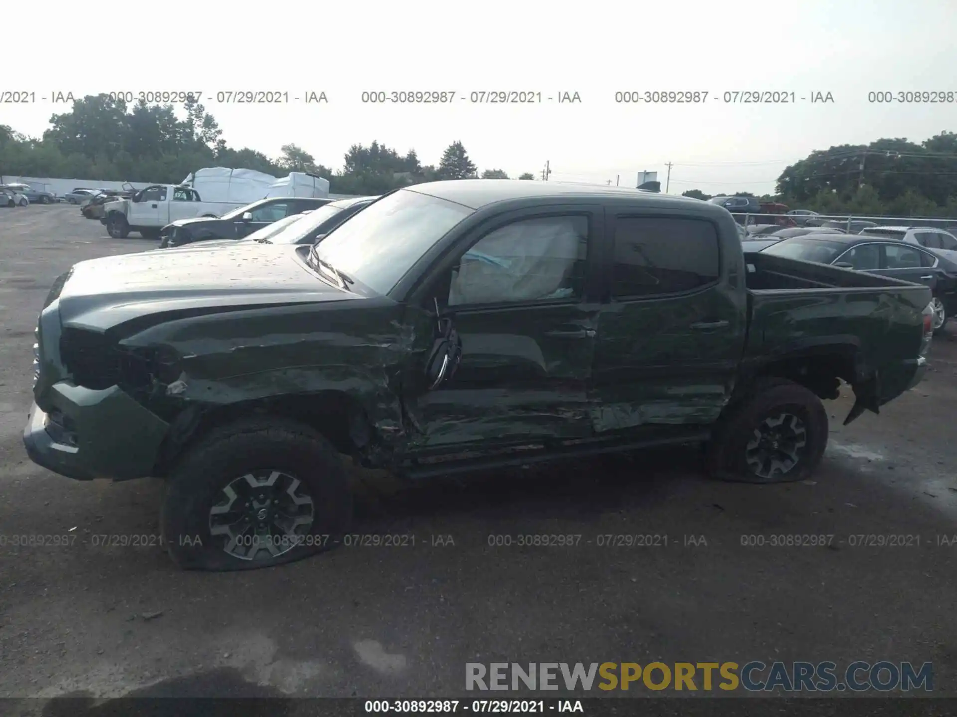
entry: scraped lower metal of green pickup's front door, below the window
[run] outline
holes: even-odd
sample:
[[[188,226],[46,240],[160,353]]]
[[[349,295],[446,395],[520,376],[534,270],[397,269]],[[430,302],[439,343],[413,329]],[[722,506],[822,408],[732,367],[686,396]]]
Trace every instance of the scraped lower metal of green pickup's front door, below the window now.
[[[409,397],[418,429],[410,447],[590,435],[588,385],[597,314],[597,305],[585,304],[456,312],[461,361],[451,380]],[[431,339],[421,343],[417,355],[427,345]]]

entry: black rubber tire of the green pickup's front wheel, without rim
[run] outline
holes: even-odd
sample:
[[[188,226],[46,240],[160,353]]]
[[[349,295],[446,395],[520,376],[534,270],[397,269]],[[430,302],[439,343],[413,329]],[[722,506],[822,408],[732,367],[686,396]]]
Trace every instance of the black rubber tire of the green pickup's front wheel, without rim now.
[[[285,471],[300,481],[313,502],[313,522],[288,552],[244,560],[227,553],[221,544],[224,538],[211,534],[210,511],[235,478],[269,469]],[[340,545],[352,510],[348,475],[336,449],[309,426],[259,417],[214,428],[187,450],[167,477],[160,525],[167,552],[180,568],[250,570]]]

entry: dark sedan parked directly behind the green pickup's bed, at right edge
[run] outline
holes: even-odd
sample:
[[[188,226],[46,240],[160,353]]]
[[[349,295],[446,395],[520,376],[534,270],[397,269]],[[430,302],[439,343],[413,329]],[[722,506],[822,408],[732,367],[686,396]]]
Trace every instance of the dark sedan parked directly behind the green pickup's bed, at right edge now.
[[[777,242],[762,250],[762,254],[924,284],[931,291],[935,333],[944,331],[947,320],[957,311],[957,263],[894,239],[862,234],[807,234]]]

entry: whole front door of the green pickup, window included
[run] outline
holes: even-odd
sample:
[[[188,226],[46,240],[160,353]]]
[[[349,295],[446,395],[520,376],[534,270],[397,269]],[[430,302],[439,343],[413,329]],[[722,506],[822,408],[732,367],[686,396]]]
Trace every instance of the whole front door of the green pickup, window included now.
[[[410,309],[434,313],[437,301],[462,342],[452,378],[407,401],[418,426],[412,452],[590,435],[601,226],[601,207],[550,206],[463,237],[451,269],[431,279],[428,306]]]

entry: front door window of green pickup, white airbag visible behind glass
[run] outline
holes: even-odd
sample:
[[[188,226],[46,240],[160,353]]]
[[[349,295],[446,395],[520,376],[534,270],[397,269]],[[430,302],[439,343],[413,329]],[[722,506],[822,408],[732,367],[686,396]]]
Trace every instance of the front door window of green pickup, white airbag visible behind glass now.
[[[448,306],[581,298],[588,239],[584,215],[536,217],[494,229],[453,269]]]

